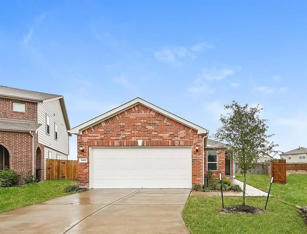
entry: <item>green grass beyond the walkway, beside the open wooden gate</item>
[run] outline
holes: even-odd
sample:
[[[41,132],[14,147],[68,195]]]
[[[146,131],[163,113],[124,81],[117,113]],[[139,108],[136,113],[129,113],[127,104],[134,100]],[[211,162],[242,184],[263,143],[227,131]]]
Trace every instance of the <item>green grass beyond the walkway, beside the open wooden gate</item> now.
[[[243,181],[241,174],[236,174],[235,178]],[[266,175],[247,174],[246,183],[264,192],[269,191],[270,178]],[[270,194],[280,197],[293,205],[307,205],[307,174],[289,174],[287,184],[273,183]]]

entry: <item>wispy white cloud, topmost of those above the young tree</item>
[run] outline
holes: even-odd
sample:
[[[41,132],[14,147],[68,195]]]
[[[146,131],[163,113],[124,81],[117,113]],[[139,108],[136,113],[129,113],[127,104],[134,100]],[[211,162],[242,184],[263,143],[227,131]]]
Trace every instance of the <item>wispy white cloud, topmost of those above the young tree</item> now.
[[[213,49],[214,45],[207,42],[198,43],[192,46],[165,46],[161,50],[154,52],[154,56],[157,60],[177,64],[180,58],[190,57],[195,58],[194,52],[204,52],[208,49]]]

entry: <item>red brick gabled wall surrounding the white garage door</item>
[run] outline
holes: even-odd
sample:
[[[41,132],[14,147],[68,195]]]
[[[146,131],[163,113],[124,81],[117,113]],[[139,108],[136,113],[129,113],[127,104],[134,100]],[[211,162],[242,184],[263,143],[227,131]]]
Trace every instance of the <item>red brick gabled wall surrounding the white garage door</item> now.
[[[78,158],[87,158],[87,163],[79,163],[79,177],[88,187],[89,146],[137,146],[137,140],[142,139],[144,146],[192,146],[192,184],[202,184],[202,137],[196,130],[138,104],[77,136]]]

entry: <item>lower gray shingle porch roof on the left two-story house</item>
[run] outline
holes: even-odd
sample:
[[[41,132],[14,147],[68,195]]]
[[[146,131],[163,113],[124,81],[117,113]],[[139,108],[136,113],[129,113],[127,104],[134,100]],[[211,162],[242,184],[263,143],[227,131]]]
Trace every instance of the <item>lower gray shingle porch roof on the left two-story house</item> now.
[[[20,120],[20,119],[4,119],[0,118],[0,130],[1,131],[19,131],[29,132],[35,131],[41,126],[41,123]]]

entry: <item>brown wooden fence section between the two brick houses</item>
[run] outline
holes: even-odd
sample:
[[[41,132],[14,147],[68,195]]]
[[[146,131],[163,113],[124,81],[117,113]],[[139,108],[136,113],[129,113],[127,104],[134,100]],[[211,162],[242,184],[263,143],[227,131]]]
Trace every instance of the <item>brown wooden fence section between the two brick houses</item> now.
[[[69,179],[78,176],[78,161],[46,159],[46,179],[60,180]]]

